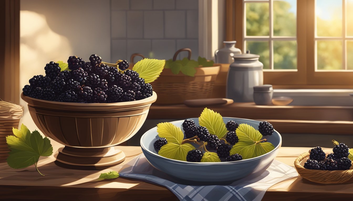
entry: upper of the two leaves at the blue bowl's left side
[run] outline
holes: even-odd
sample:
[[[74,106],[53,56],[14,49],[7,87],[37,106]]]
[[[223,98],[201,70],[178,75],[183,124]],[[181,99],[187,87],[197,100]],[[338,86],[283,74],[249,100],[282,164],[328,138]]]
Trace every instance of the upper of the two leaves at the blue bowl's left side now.
[[[175,143],[181,145],[184,139],[183,131],[169,122],[157,124],[157,133],[160,138],[166,138],[168,144]]]

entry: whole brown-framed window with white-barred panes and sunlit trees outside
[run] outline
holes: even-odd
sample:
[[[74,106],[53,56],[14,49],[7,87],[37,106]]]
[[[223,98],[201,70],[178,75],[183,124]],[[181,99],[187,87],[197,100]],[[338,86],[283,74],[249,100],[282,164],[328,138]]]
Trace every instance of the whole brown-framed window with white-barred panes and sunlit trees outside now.
[[[227,0],[227,40],[277,88],[353,87],[353,0]]]

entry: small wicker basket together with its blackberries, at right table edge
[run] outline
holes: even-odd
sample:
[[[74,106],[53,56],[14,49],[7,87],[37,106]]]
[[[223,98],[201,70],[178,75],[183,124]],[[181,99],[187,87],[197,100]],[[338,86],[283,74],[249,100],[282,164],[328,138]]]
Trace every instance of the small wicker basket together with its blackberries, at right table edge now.
[[[294,166],[301,177],[323,184],[353,182],[352,153],[346,144],[332,142],[335,145],[332,153],[326,154],[318,146],[295,159]]]

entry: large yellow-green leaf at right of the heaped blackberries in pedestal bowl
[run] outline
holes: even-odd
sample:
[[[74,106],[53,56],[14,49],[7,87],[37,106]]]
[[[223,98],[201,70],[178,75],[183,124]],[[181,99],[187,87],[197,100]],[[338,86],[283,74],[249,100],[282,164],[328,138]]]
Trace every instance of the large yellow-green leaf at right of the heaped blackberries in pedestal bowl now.
[[[144,58],[138,61],[132,68],[145,79],[145,83],[155,81],[162,73],[166,60]]]

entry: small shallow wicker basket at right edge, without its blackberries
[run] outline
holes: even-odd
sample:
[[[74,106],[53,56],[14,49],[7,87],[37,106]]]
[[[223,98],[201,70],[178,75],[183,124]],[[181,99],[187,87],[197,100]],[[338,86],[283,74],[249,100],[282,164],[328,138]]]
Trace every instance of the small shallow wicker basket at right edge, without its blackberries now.
[[[298,174],[316,183],[323,184],[343,184],[353,182],[353,169],[349,170],[308,170],[305,169],[300,163],[309,158],[310,153],[306,152],[298,156],[294,161],[294,167],[297,169]]]

